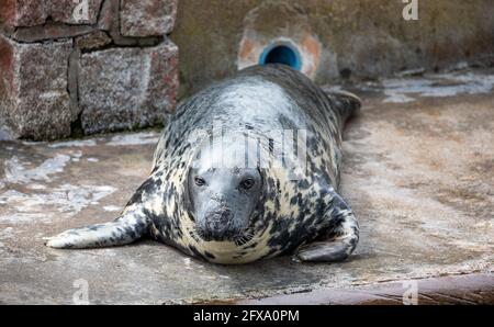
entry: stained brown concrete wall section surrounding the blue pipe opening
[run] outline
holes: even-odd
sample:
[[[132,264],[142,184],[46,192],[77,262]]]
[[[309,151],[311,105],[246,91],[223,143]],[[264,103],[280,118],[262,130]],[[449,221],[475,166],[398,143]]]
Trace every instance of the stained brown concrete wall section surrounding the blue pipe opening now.
[[[318,83],[377,78],[460,61],[492,63],[492,0],[180,0],[180,97],[258,61],[273,42],[295,45]]]

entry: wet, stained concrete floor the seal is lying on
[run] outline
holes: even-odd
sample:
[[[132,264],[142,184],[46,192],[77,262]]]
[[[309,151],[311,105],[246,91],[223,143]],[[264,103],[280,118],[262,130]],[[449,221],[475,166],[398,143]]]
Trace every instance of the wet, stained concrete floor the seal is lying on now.
[[[70,304],[85,281],[90,303],[147,304],[492,277],[493,84],[494,71],[483,70],[353,90],[363,110],[345,133],[341,188],[360,219],[361,241],[350,260],[335,264],[278,258],[213,266],[150,240],[46,248],[45,236],[117,215],[149,171],[158,132],[0,142],[0,303]],[[493,289],[494,279],[482,281]]]

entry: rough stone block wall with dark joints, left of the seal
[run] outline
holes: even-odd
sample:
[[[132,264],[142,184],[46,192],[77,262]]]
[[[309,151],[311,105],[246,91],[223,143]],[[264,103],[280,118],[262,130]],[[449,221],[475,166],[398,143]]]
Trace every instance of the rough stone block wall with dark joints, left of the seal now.
[[[178,0],[0,0],[0,139],[158,125]]]

